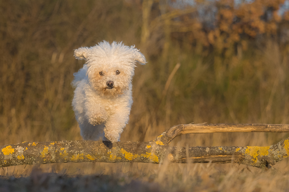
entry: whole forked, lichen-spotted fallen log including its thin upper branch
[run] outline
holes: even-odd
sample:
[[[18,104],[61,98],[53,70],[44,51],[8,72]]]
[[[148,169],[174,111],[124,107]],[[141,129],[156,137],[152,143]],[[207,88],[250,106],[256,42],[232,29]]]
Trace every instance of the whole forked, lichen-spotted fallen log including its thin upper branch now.
[[[211,132],[289,132],[289,125],[189,124],[174,126],[149,142],[55,141],[0,146],[0,167],[67,162],[240,163],[264,167],[289,155],[289,138],[267,146],[170,147],[178,135]]]

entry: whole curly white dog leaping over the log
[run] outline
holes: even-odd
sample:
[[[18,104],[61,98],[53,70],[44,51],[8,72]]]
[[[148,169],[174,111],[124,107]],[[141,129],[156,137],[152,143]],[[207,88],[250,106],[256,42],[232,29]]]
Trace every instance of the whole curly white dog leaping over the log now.
[[[119,141],[129,120],[132,105],[131,80],[136,62],[146,59],[134,46],[103,41],[93,47],[74,50],[87,62],[74,73],[72,101],[84,140]]]

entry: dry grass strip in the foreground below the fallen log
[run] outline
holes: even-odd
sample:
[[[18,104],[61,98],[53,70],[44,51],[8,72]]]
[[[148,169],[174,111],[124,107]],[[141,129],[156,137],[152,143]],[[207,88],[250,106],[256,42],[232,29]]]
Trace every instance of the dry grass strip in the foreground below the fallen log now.
[[[275,166],[280,168],[278,171],[267,172],[229,164],[27,165],[25,168],[18,166],[16,170],[20,172],[13,167],[1,170],[0,189],[15,189],[22,185],[22,190],[34,186],[38,191],[97,191],[105,186],[107,191],[288,191],[289,171],[286,164],[288,162]]]

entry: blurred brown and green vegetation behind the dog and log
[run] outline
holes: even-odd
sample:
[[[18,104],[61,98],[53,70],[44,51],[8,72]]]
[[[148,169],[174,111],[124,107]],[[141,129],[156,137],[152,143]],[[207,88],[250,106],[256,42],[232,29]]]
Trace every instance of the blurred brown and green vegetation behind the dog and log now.
[[[192,122],[289,123],[288,4],[0,1],[0,145],[81,140],[71,81],[84,61],[73,50],[103,40],[135,44],[148,61],[136,68],[122,141],[148,141]],[[192,134],[175,142],[271,145],[284,136]]]

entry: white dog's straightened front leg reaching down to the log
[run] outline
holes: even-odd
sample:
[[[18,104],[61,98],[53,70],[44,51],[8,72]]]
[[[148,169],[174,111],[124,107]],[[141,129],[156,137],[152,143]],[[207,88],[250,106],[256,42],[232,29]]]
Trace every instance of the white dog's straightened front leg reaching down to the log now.
[[[107,119],[105,123],[105,137],[111,142],[119,141],[123,128],[129,120],[129,109],[122,112],[117,112]]]

